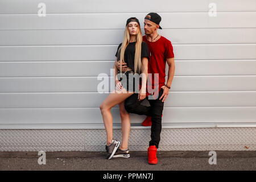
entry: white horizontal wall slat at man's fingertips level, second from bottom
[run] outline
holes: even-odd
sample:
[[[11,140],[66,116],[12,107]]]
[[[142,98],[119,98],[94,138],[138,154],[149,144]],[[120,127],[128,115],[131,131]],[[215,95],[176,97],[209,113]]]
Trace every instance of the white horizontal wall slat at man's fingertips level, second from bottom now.
[[[98,107],[107,93],[0,93],[0,109]],[[165,107],[256,106],[256,92],[170,92]],[[118,107],[118,106],[117,106]]]

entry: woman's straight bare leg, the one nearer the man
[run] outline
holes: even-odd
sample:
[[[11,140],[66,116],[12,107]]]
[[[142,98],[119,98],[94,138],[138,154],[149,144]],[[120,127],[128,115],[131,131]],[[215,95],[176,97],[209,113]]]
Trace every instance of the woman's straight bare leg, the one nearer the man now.
[[[130,114],[125,109],[125,101],[119,104],[120,117],[122,121],[122,143],[120,144],[120,149],[125,150],[128,148],[128,140],[130,134]]]

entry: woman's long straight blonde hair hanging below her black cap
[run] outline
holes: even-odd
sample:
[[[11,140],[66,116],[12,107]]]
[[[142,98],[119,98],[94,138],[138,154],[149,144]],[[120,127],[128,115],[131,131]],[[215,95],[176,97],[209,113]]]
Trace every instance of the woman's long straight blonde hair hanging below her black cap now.
[[[129,34],[129,24],[127,24],[125,28],[125,34],[123,35],[122,46],[118,49],[118,53],[120,55],[120,63],[125,57],[125,49],[130,42],[130,34]],[[141,62],[141,43],[142,43],[142,32],[141,27],[138,24],[137,28],[137,38],[135,43],[135,56],[134,56],[134,72],[141,74],[142,72],[142,62]],[[120,52],[121,51],[121,52]],[[120,64],[120,72],[122,72],[122,64]]]

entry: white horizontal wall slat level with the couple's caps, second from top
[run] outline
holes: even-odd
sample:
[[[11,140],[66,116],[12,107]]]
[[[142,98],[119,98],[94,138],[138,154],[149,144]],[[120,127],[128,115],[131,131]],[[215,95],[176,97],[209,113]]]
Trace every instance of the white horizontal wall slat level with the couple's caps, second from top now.
[[[255,28],[256,12],[159,13],[162,28]],[[143,25],[145,13],[104,14],[5,14],[0,15],[0,30],[56,30],[56,29],[120,29],[127,18],[136,16]]]

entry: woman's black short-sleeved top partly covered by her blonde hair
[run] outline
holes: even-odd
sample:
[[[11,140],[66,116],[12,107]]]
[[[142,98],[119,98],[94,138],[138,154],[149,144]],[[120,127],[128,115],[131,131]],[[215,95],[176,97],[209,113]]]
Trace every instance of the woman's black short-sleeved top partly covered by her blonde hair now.
[[[131,42],[128,44],[128,46],[125,49],[125,55],[124,55],[124,61],[127,65],[127,67],[133,69],[134,71],[134,57],[135,57],[135,43],[136,42]],[[120,52],[118,53],[118,49],[122,46],[122,43],[119,44],[118,48],[117,48],[117,52],[115,53],[115,56],[117,57],[117,61],[120,60]],[[147,47],[147,43],[142,41],[141,43],[141,57],[147,57],[147,59],[149,60],[149,51],[148,51],[148,47]]]

